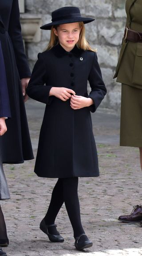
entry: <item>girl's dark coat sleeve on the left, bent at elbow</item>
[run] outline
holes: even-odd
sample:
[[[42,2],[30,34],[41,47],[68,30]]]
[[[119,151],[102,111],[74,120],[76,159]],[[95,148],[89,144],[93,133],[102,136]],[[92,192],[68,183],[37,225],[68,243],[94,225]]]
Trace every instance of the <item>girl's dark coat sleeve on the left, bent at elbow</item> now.
[[[39,53],[26,92],[30,98],[45,104],[50,104],[54,97],[49,96],[52,86],[45,86],[45,81],[47,81],[46,65],[42,53]]]

